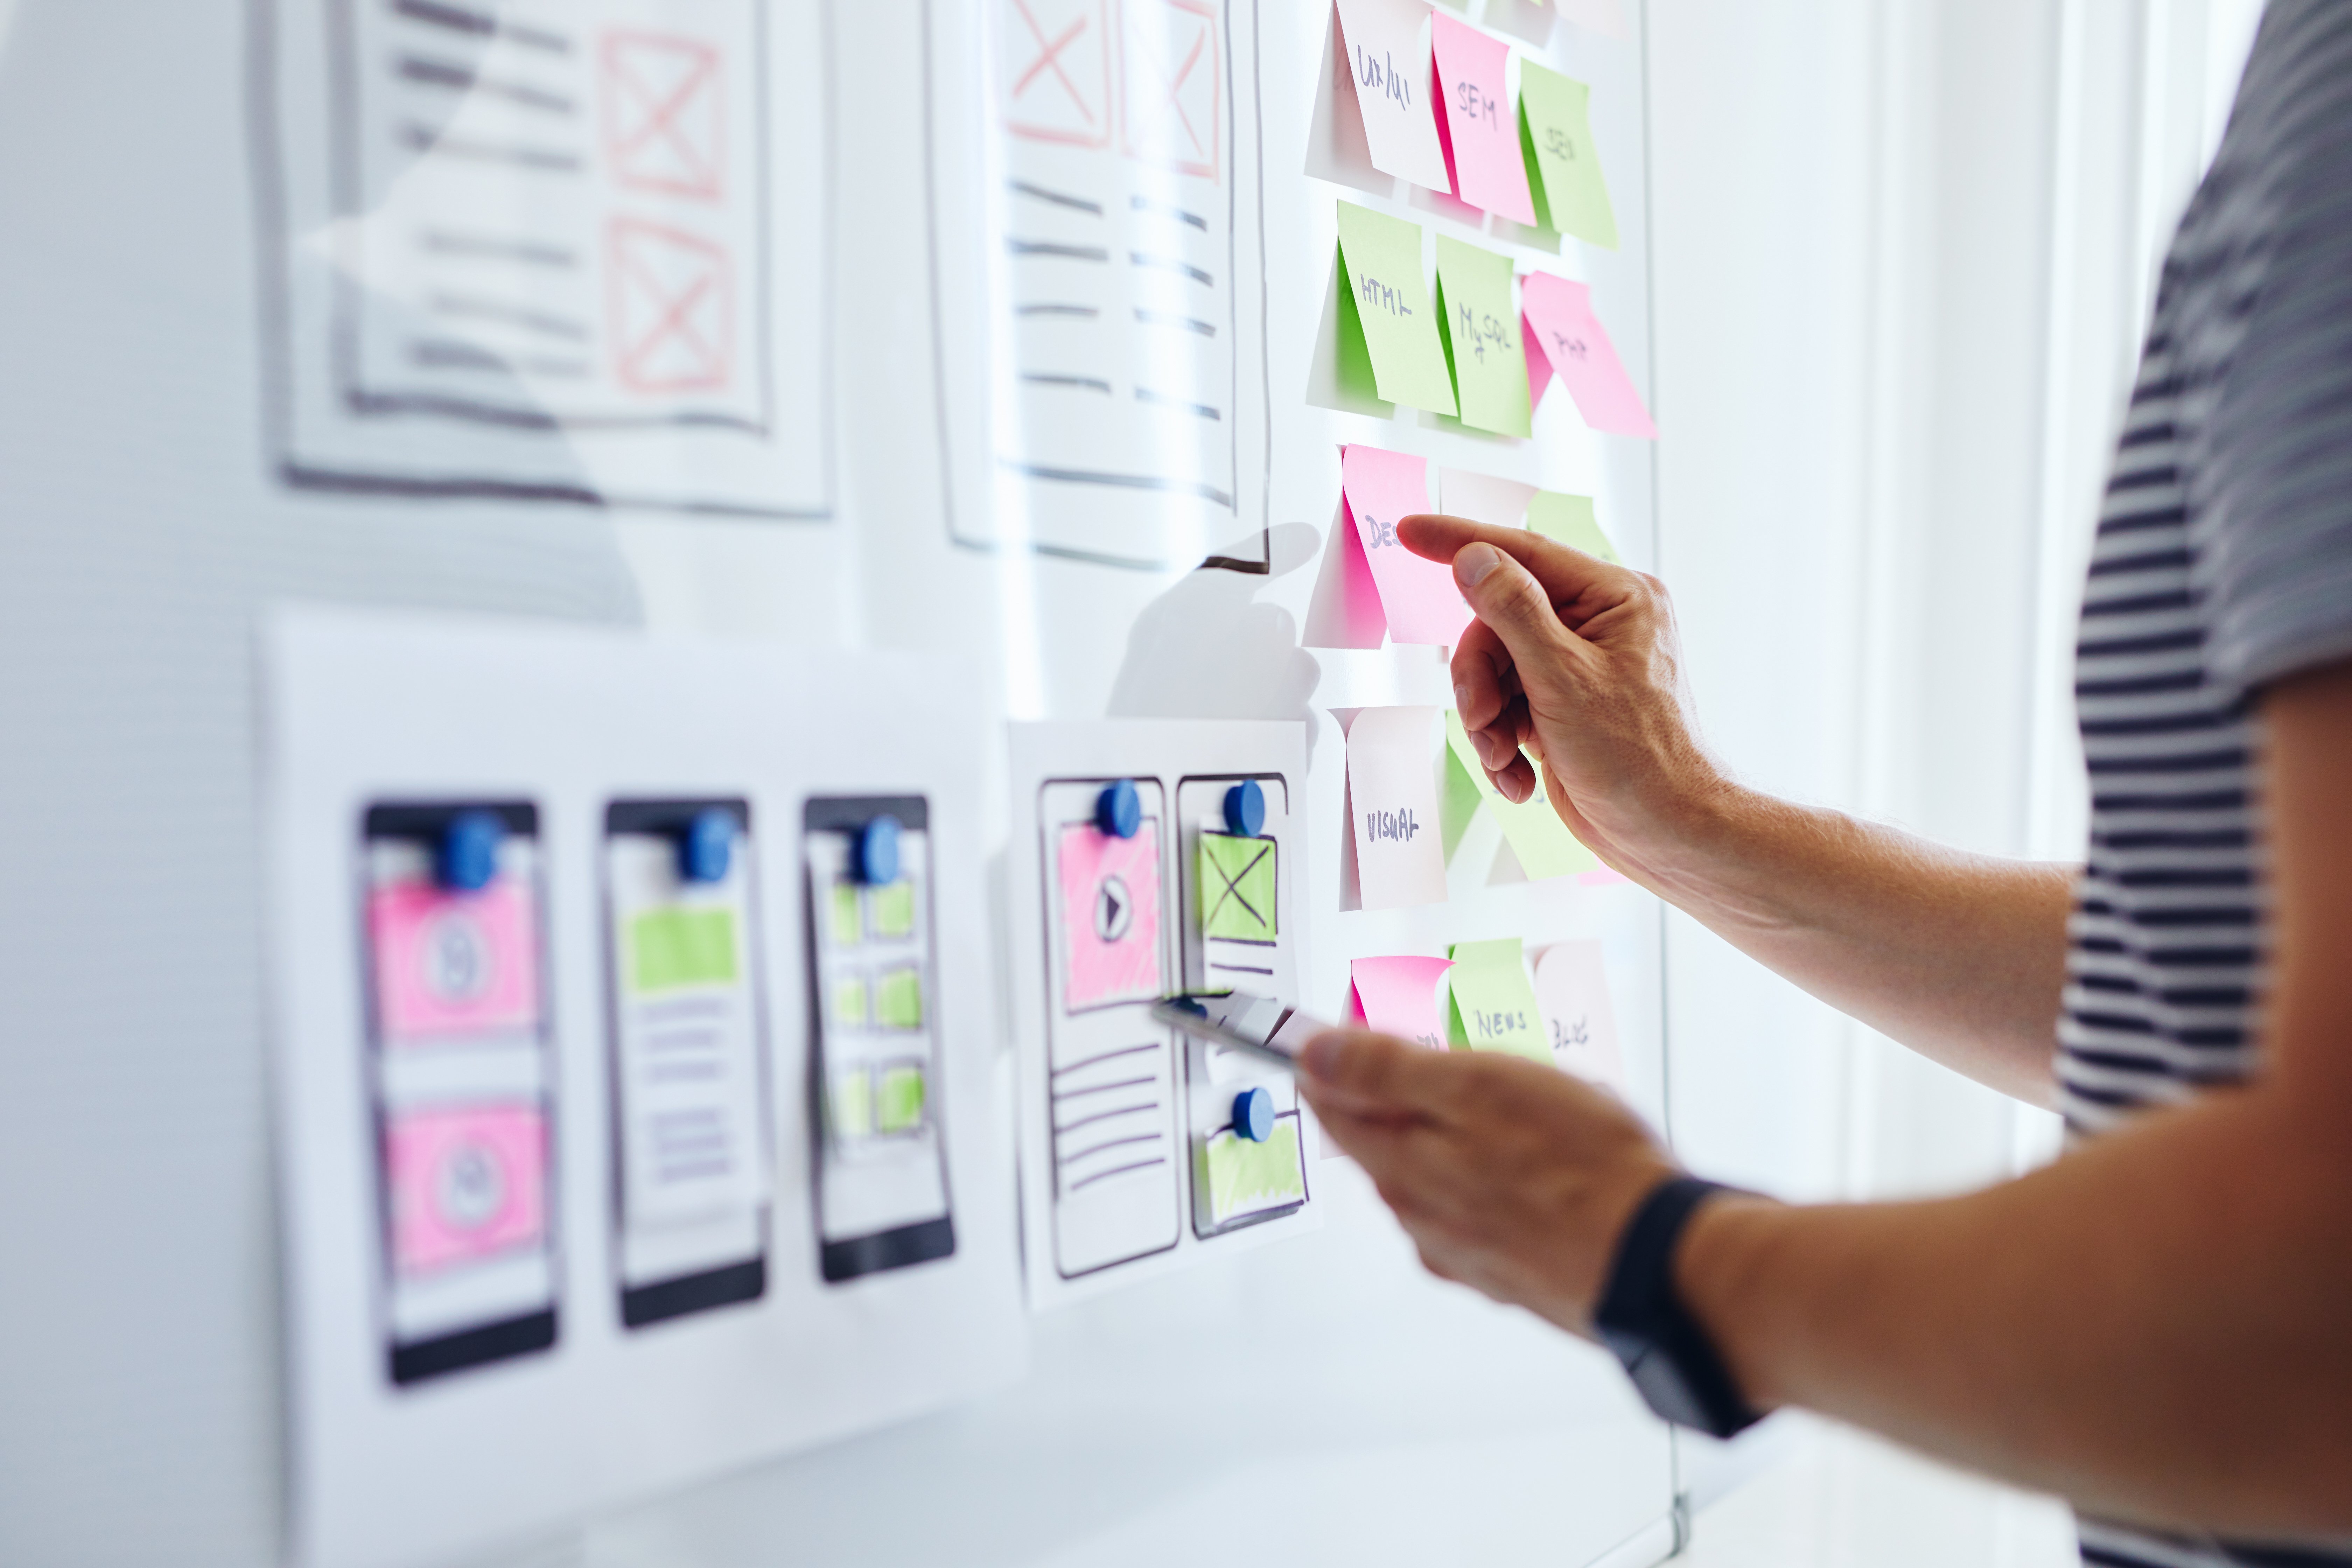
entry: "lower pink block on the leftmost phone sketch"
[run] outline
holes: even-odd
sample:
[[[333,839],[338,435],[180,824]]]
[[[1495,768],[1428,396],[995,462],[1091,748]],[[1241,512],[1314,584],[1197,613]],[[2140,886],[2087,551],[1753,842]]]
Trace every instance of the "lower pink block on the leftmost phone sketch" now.
[[[409,1112],[383,1135],[393,1267],[430,1274],[539,1246],[548,1232],[548,1124],[536,1105]]]

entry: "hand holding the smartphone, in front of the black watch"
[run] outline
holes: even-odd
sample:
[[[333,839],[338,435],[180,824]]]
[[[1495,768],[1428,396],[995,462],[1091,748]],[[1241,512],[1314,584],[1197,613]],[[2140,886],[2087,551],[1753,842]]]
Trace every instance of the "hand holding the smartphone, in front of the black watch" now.
[[[1324,1133],[1439,1279],[1592,1335],[1618,1232],[1677,1175],[1616,1098],[1515,1056],[1327,1030],[1298,1058]]]

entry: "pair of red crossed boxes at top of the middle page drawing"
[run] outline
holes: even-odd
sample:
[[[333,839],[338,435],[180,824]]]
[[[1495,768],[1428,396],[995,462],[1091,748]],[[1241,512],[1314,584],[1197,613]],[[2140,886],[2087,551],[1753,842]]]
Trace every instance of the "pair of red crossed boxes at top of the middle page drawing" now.
[[[1218,176],[1223,59],[1216,12],[1204,0],[1002,0],[997,21],[1009,132],[1101,148],[1117,120],[1129,158]]]

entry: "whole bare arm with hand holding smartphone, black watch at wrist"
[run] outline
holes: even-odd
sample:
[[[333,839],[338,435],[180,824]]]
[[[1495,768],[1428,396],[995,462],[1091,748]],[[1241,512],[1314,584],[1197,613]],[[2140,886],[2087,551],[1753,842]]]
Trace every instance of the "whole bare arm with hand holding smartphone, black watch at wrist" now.
[[[1933,1204],[1724,1194],[1677,1284],[1757,1406],[1809,1406],[2154,1526],[2352,1530],[2352,665],[2265,701],[2277,971],[2265,1072]],[[1327,1131],[1439,1274],[1590,1333],[1670,1171],[1526,1063],[1310,1041]]]

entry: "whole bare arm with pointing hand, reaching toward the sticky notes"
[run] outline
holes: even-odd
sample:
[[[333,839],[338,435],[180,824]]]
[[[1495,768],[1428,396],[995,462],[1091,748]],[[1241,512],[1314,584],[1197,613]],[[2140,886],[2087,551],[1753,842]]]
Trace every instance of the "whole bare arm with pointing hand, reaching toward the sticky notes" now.
[[[1526,529],[1406,517],[1477,621],[1454,693],[1489,778],[1823,1001],[2051,1098],[2074,867],[1973,856],[1740,785],[1708,752],[1665,588]],[[1524,748],[1524,755],[1522,755]]]

